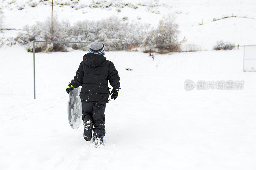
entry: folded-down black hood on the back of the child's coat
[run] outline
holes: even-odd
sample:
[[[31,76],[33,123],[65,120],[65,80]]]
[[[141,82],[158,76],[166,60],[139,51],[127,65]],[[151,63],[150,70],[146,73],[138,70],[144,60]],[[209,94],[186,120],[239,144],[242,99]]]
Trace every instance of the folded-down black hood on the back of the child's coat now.
[[[98,54],[88,53],[85,54],[84,63],[89,67],[97,67],[106,60],[106,57]]]

